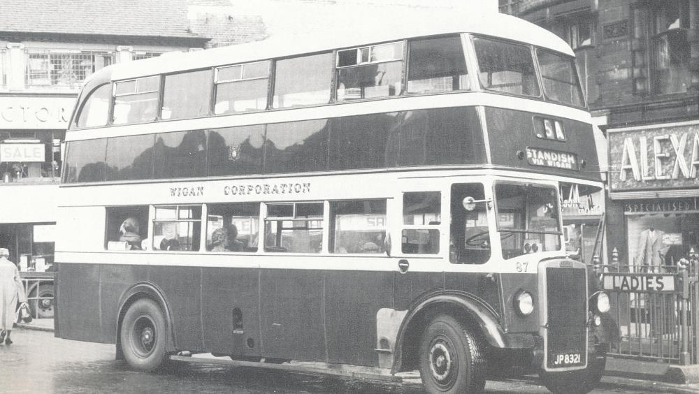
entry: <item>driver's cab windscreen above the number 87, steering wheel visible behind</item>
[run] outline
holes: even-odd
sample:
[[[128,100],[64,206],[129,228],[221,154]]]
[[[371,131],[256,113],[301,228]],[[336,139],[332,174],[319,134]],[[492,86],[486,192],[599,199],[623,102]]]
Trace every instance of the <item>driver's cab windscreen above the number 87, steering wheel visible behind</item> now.
[[[554,187],[500,183],[495,194],[503,257],[561,249]]]

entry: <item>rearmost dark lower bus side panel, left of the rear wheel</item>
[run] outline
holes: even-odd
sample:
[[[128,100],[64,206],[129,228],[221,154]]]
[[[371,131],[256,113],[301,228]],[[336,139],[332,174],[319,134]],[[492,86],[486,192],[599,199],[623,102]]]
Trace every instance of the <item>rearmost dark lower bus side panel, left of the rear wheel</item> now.
[[[96,264],[58,263],[58,337],[66,340],[114,343],[114,333],[103,335],[99,310],[99,274]],[[69,314],[69,312],[72,312]]]

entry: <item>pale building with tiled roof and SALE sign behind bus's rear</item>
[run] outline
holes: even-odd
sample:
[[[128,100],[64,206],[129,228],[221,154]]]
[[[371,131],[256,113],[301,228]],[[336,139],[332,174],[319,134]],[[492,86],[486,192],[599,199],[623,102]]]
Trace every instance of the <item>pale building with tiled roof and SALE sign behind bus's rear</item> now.
[[[51,270],[64,138],[85,78],[208,41],[190,31],[184,1],[2,1],[0,247],[21,270]]]

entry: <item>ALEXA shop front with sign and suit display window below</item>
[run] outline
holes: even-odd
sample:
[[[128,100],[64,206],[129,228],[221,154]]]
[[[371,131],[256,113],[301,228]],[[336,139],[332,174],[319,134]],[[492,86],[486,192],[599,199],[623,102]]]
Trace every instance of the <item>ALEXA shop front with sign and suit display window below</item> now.
[[[609,247],[642,270],[699,251],[699,121],[607,131]]]

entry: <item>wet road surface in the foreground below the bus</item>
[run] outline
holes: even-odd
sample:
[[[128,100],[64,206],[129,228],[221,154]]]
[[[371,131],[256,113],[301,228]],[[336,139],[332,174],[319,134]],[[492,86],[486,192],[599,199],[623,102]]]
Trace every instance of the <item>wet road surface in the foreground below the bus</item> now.
[[[419,380],[388,384],[257,368],[177,363],[157,373],[129,370],[114,345],[60,340],[53,333],[13,330],[0,346],[0,393],[372,393],[424,394]],[[658,393],[605,382],[593,393]],[[487,393],[548,393],[534,379],[488,382]]]

